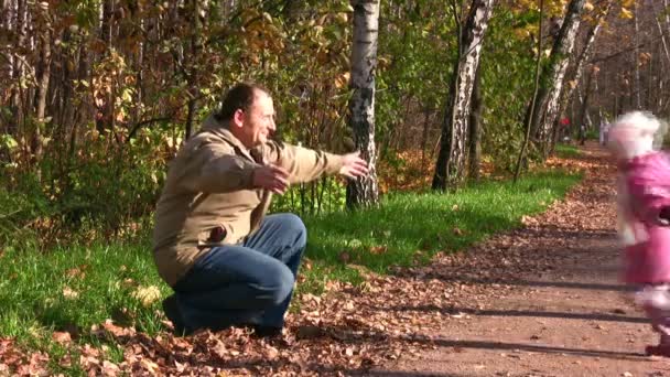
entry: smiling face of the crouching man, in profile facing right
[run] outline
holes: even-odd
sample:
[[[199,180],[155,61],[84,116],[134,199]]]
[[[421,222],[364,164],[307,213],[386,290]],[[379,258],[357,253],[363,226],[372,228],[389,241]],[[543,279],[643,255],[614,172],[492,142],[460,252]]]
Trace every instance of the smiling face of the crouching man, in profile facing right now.
[[[247,111],[244,111],[240,141],[245,147],[253,148],[268,141],[275,129],[272,98],[263,91],[256,90],[253,104]]]

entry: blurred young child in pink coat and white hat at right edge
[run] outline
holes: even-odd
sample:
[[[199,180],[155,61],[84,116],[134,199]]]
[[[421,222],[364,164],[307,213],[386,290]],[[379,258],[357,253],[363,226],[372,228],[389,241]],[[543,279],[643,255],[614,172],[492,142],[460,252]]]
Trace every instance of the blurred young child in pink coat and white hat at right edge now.
[[[670,160],[656,150],[662,128],[650,115],[630,112],[613,125],[607,146],[618,166],[624,279],[639,287],[636,301],[660,333],[647,354],[670,357]]]

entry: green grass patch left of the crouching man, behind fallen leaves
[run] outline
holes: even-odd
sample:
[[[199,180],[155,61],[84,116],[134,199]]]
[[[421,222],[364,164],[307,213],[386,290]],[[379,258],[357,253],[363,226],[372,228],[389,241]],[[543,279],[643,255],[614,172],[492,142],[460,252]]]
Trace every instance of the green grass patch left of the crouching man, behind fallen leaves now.
[[[45,254],[7,249],[0,256],[0,337],[47,352],[54,373],[83,374],[76,363],[65,369],[57,365],[67,351],[73,360],[78,355],[54,342],[54,331],[79,333],[79,343],[106,349],[107,359],[115,360],[122,352],[110,338],[91,336],[93,325],[112,319],[150,334],[164,330],[160,301],[145,306],[133,294],[152,286],[162,297],[169,294],[148,244],[75,246]]]

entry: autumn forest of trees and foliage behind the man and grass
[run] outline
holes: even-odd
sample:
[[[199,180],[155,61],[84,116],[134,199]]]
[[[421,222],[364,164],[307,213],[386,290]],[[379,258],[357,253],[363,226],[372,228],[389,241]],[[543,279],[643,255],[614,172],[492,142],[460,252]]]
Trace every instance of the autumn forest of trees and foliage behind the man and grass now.
[[[271,90],[280,139],[337,152],[359,148],[348,110],[358,3],[3,0],[3,247],[145,236],[170,159],[239,80]],[[472,82],[466,94],[477,96],[467,104],[478,107],[466,112],[476,125],[452,136],[455,64],[465,55],[460,46],[468,28],[477,26],[467,23],[477,7],[491,13],[478,44],[478,74],[460,78]],[[626,110],[666,117],[667,9],[666,0],[383,2],[370,62],[374,127],[367,128],[379,192],[428,188],[445,160],[440,152],[455,149],[443,146],[450,137],[462,139],[469,169],[456,166],[441,188],[512,172],[529,127],[526,154],[541,164],[559,138],[593,137],[601,122]],[[565,42],[570,17],[574,41]],[[573,45],[570,54],[556,50],[560,39]],[[562,75],[556,64],[568,64]],[[550,130],[542,137],[528,114],[532,99],[552,88],[560,109],[542,119]],[[345,185],[324,179],[294,187],[274,209],[342,209]]]

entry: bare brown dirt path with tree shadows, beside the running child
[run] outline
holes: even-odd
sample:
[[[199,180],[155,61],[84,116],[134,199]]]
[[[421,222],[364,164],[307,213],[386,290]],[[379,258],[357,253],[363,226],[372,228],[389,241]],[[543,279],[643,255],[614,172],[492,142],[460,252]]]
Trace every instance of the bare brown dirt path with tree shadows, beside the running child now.
[[[446,320],[431,334],[433,349],[400,357],[374,375],[670,376],[670,360],[641,354],[657,335],[617,280],[612,168],[597,148],[585,153],[584,161],[592,161],[587,177],[568,201],[529,219],[527,228],[487,243],[495,249],[511,237],[505,254],[519,262],[510,267],[533,272],[494,272],[490,282],[482,282],[480,259],[455,263],[473,268],[469,281],[457,273],[463,266],[433,267],[442,278],[462,279],[484,293],[456,306],[399,309],[437,311]]]

